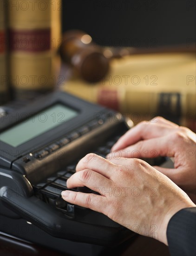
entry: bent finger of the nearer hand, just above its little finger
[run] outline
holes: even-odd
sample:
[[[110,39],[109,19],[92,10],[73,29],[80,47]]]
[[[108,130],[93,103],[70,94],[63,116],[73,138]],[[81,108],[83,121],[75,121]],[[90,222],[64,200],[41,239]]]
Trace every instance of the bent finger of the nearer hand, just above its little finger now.
[[[90,169],[74,173],[66,184],[68,189],[85,186],[92,190],[98,190],[98,188],[103,187],[107,189],[113,185],[111,180]]]

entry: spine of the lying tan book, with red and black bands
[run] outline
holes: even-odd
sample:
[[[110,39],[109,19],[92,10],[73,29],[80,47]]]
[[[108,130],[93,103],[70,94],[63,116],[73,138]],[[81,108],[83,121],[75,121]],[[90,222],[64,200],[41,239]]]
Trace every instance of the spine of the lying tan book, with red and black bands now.
[[[119,111],[124,116],[131,116],[135,123],[162,115],[184,125],[184,117],[188,116],[189,122],[186,122],[186,126],[193,129],[196,108],[194,88],[133,89],[128,86],[93,86],[73,80],[65,83],[64,90],[87,101]]]

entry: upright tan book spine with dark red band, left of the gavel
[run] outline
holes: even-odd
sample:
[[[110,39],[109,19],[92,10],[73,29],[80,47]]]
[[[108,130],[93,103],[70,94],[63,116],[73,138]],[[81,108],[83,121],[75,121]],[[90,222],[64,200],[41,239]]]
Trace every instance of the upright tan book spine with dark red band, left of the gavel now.
[[[55,88],[61,0],[9,0],[10,82],[19,95]]]

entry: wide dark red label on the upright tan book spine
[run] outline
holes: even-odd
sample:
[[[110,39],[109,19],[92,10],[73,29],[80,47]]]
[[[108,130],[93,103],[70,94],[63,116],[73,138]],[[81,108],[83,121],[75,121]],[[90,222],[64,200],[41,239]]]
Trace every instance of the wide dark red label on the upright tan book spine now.
[[[44,52],[50,50],[51,29],[10,30],[10,50]]]

